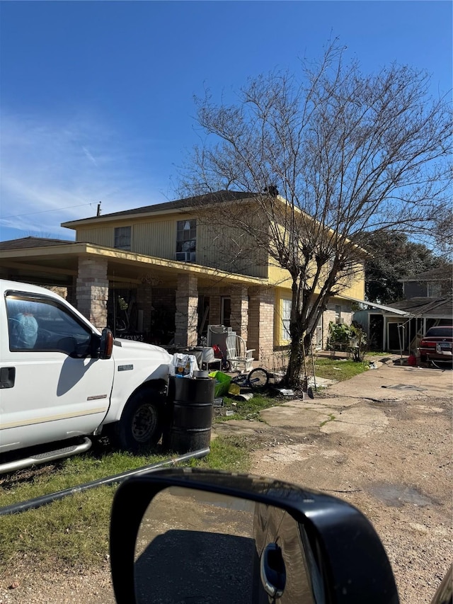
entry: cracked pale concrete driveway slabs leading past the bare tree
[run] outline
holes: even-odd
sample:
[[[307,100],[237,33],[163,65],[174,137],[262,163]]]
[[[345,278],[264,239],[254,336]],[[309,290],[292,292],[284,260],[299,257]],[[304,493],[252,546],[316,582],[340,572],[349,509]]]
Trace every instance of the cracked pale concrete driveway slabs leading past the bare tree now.
[[[452,399],[452,370],[424,369],[395,365],[393,359],[377,363],[376,370],[337,382],[314,399],[294,399],[261,411],[263,423],[228,421],[214,424],[213,433],[252,435],[275,428],[291,428],[293,435],[306,431],[366,436],[388,424],[385,409],[404,401],[420,401],[424,409],[435,407],[435,400]],[[364,406],[363,403],[366,405]]]

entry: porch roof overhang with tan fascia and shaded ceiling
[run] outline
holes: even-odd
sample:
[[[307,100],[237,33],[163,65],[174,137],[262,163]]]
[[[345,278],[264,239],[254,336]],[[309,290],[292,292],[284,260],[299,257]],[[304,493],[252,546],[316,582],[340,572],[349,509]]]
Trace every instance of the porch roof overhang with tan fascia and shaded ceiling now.
[[[52,280],[61,285],[70,285],[72,278],[78,274],[79,257],[107,259],[108,279],[117,283],[147,282],[154,287],[176,287],[181,273],[197,277],[199,287],[267,283],[261,278],[86,243],[1,250],[0,268],[13,280]]]

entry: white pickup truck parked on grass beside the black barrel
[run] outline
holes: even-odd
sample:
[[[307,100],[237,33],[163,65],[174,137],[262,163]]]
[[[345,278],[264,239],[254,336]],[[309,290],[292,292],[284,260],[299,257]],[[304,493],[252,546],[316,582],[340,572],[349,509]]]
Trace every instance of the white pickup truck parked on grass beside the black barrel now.
[[[101,431],[130,451],[159,440],[172,360],[163,348],[114,340],[54,292],[7,280],[0,334],[0,473],[86,450]],[[39,459],[1,462],[50,443]]]

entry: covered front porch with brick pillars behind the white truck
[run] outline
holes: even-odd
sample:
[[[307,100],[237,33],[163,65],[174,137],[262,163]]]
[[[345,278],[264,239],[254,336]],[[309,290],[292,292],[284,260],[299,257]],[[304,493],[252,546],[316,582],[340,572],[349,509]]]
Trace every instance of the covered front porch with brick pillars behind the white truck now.
[[[272,353],[273,291],[262,278],[34,237],[1,242],[0,275],[52,287],[120,337],[197,346],[209,323],[224,324],[256,349],[256,358]]]

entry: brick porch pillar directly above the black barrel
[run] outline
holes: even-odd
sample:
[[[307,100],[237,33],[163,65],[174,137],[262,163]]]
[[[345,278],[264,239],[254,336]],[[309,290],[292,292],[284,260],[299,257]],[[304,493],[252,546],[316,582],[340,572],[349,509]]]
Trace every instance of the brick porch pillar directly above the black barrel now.
[[[197,346],[198,287],[192,275],[178,275],[176,290],[175,344]]]

